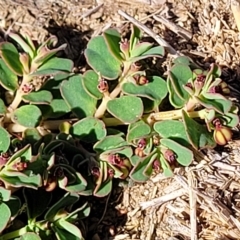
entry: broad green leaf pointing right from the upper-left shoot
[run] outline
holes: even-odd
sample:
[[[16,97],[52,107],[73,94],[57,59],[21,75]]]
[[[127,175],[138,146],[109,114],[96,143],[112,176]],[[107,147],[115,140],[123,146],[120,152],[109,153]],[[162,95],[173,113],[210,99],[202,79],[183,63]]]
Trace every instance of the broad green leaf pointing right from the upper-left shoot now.
[[[31,73],[31,76],[45,76],[55,75],[61,72],[71,72],[72,68],[72,60],[54,57],[43,63],[36,72]]]

